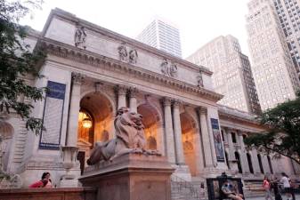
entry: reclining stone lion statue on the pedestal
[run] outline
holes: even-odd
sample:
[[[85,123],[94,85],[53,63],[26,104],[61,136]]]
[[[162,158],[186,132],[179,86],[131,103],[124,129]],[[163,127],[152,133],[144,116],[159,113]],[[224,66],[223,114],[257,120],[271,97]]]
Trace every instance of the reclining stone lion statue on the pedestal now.
[[[116,138],[97,142],[92,150],[87,164],[97,164],[100,161],[112,161],[118,156],[129,153],[159,155],[157,150],[146,150],[146,139],[142,115],[129,112],[128,108],[119,108],[115,121]]]

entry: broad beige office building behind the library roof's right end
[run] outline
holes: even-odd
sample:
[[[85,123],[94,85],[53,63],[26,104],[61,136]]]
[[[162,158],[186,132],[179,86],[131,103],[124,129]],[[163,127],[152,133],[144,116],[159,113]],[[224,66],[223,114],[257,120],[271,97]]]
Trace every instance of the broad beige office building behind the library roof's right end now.
[[[237,38],[216,37],[187,60],[206,66],[214,72],[212,77],[215,92],[224,95],[218,103],[248,113],[261,112],[250,63],[240,51]]]

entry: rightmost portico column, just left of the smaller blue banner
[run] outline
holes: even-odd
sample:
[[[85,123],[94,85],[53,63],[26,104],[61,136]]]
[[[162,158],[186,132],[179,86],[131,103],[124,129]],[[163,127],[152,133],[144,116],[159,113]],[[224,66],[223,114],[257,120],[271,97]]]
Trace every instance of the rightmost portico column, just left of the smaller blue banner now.
[[[206,167],[213,167],[213,157],[209,141],[209,132],[207,127],[207,109],[199,108],[199,119],[201,127],[202,143],[204,145],[204,160]]]

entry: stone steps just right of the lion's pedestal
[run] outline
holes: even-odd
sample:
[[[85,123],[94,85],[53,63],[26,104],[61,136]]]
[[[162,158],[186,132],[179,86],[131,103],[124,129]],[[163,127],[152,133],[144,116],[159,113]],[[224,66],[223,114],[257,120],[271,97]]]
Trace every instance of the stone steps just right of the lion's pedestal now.
[[[172,200],[203,200],[206,199],[205,188],[200,187],[197,181],[186,181],[182,178],[171,176]]]

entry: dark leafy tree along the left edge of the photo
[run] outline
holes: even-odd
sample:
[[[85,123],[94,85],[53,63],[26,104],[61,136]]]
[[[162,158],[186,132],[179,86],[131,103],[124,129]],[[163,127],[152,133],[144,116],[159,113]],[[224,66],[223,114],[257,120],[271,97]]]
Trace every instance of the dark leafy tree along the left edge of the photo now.
[[[36,66],[45,55],[41,50],[29,50],[30,46],[24,43],[28,27],[20,26],[19,20],[42,3],[0,0],[0,112],[15,111],[32,131],[42,128],[42,120],[30,116],[30,101],[42,100],[45,88],[31,86],[25,77],[40,77]]]

